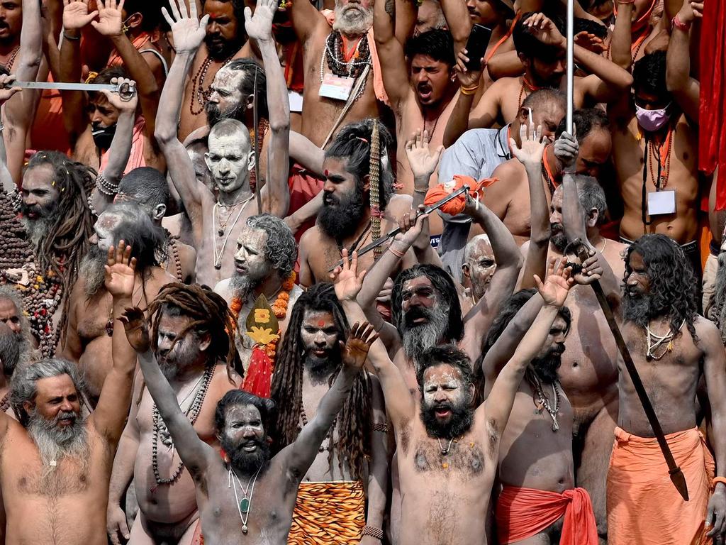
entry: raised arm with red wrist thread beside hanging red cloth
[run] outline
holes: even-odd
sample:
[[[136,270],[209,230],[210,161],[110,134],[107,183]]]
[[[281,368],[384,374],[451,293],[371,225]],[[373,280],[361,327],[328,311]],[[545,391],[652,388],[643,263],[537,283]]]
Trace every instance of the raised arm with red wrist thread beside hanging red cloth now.
[[[698,102],[701,84],[690,77],[690,44],[688,31],[693,22],[703,17],[703,4],[685,0],[676,15],[666,55],[666,86],[686,116],[698,123]]]

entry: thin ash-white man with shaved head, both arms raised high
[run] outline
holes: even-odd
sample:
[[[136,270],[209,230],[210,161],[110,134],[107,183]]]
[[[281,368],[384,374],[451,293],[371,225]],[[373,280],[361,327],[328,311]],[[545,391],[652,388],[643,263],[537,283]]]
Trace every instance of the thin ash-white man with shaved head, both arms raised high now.
[[[215,196],[197,180],[187,150],[176,137],[176,119],[181,108],[181,82],[204,39],[208,17],[205,15],[201,23],[197,22],[193,2],[191,17],[183,1],[179,2],[179,7],[176,7],[176,0],[172,5],[174,18],[166,10],[164,17],[174,33],[176,57],[162,92],[156,136],[166,156],[171,179],[192,221],[197,249],[197,282],[214,286],[232,276],[234,241],[240,237],[247,218],[257,210],[258,202],[253,201],[255,193],[250,190],[249,183],[253,150],[244,125],[233,119],[220,121],[211,129],[209,151],[205,156],[219,194]],[[267,102],[271,106],[267,183],[261,189],[258,187],[262,211],[285,217],[290,199],[287,189],[290,110],[285,78],[272,41],[275,5],[272,0],[258,2],[255,16],[248,14],[245,25],[250,38],[257,41],[262,52],[268,82]]]

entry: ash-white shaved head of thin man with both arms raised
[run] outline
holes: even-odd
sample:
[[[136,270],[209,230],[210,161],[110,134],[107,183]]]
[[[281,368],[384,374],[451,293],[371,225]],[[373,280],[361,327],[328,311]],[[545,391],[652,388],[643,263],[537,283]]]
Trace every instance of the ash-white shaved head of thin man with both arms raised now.
[[[254,150],[250,132],[236,119],[224,119],[212,127],[205,161],[221,193],[234,193],[249,185]]]

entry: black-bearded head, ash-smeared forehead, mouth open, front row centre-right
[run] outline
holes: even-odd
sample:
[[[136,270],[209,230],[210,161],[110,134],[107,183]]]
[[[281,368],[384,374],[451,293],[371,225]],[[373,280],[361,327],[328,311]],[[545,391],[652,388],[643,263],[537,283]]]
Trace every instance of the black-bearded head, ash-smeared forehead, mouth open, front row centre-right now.
[[[474,382],[469,357],[453,344],[425,350],[418,359],[420,417],[428,435],[452,439],[473,422]]]

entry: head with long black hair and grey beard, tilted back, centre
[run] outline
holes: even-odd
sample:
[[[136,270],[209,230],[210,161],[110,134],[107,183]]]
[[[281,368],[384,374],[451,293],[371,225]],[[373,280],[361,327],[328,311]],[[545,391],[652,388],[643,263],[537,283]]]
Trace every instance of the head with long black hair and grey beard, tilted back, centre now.
[[[436,265],[414,265],[396,276],[391,315],[404,352],[414,361],[427,348],[460,341],[464,335],[454,280]]]

